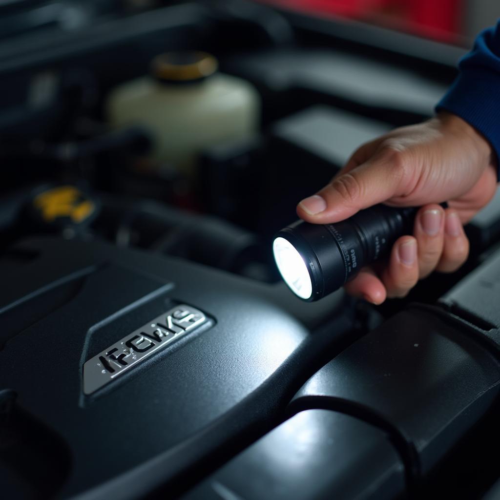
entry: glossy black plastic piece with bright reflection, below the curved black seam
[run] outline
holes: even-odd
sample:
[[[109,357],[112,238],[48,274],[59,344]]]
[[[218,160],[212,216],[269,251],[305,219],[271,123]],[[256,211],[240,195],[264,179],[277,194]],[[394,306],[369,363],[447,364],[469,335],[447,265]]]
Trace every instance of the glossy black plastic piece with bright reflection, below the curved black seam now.
[[[402,464],[383,431],[315,409],[283,422],[182,498],[350,500],[403,490]]]

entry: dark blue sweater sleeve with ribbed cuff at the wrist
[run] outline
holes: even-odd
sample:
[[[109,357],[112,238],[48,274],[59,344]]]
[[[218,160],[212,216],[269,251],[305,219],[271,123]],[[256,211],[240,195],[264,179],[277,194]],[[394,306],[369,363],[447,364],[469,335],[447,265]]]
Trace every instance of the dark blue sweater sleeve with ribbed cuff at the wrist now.
[[[436,110],[450,111],[490,142],[500,159],[500,20],[482,31],[459,65],[459,74]],[[497,161],[498,164],[498,161]],[[500,164],[498,164],[500,167]],[[500,178],[500,173],[499,173]]]

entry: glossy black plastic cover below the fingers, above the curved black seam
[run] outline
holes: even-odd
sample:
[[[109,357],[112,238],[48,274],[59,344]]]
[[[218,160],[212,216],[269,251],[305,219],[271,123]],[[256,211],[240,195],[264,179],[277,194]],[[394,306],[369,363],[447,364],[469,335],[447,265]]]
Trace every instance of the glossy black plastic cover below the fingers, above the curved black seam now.
[[[466,326],[423,308],[391,317],[321,368],[292,401],[385,428],[411,474],[424,474],[498,394],[497,360]]]

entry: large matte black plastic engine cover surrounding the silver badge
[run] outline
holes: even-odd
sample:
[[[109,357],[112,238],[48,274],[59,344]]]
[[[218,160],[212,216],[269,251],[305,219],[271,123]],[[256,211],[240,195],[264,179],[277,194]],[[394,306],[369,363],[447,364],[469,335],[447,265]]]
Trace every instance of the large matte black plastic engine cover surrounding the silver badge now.
[[[40,442],[54,442],[45,460],[54,455],[52,468],[67,467],[54,478],[60,497],[129,498],[168,482],[283,408],[288,384],[310,362],[300,307],[291,305],[292,317],[273,302],[274,287],[180,259],[40,238],[7,252],[0,275],[6,414],[27,415],[16,435],[41,429]],[[341,300],[334,300],[338,315]],[[199,308],[212,326],[83,394],[87,359],[177,303]],[[324,321],[334,302],[320,309],[315,319]],[[314,339],[331,345],[334,337]],[[26,453],[38,448],[32,442]],[[30,480],[22,467],[14,470],[11,484]]]

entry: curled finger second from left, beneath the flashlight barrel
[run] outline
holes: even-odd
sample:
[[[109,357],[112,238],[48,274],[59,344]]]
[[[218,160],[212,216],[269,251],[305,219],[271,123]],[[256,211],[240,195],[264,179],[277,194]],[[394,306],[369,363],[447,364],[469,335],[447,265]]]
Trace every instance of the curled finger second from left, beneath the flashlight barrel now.
[[[388,265],[381,273],[387,297],[404,297],[418,281],[417,242],[401,236],[394,243]]]

